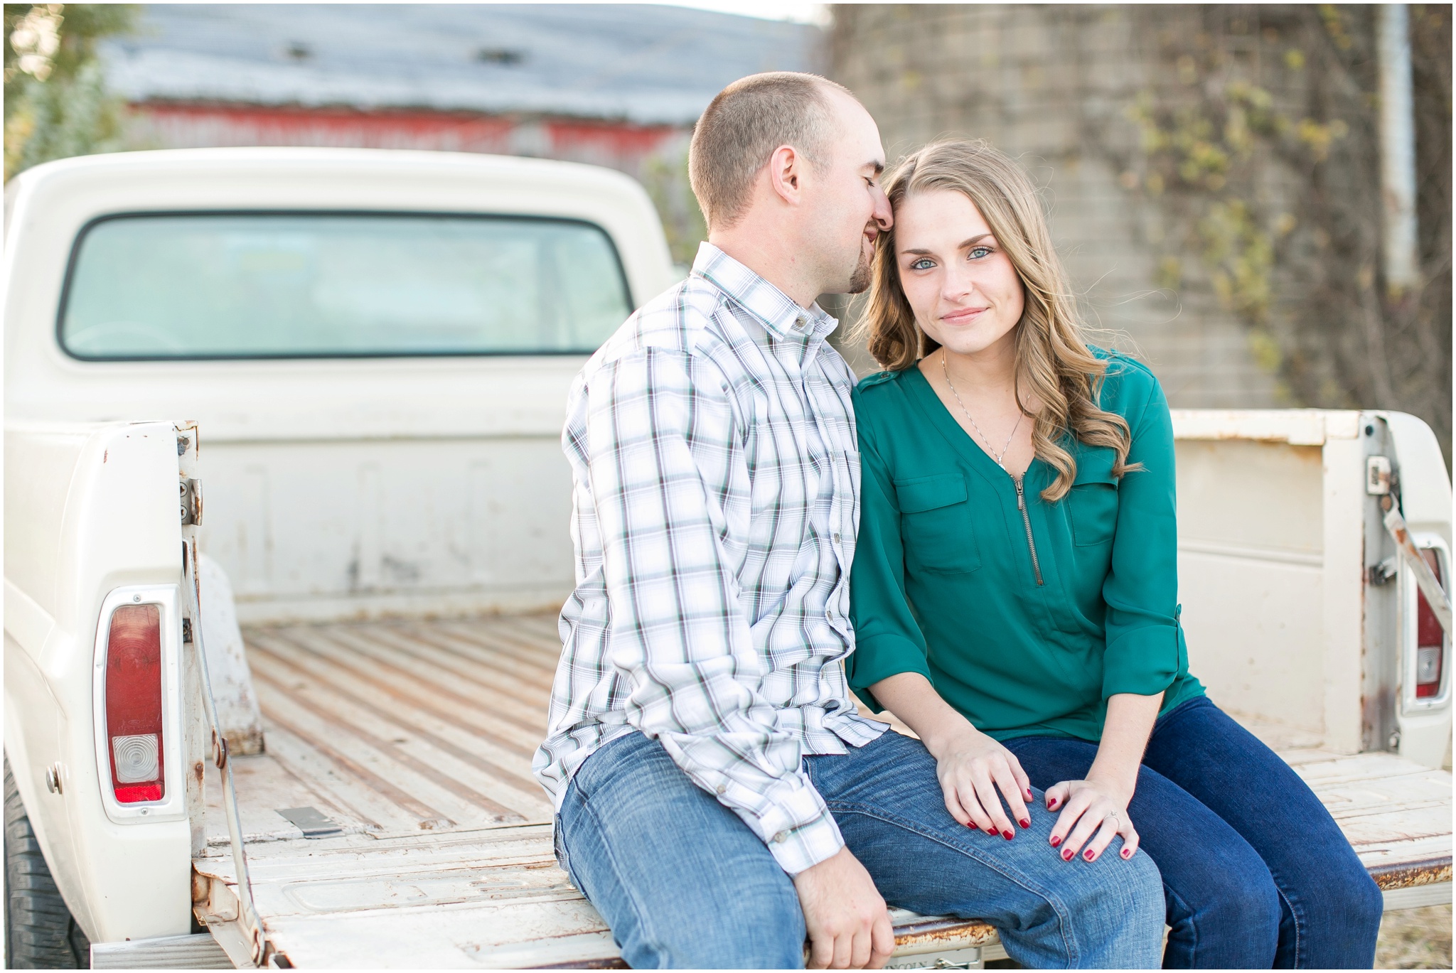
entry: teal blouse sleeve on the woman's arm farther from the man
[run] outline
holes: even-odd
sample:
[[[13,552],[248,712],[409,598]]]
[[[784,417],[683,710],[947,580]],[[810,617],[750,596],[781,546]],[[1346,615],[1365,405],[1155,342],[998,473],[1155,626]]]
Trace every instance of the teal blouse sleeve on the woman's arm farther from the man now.
[[[1152,390],[1143,408],[1127,417],[1133,434],[1127,462],[1143,469],[1130,470],[1118,484],[1112,567],[1102,584],[1104,699],[1160,693],[1178,677],[1181,663],[1174,427],[1162,386],[1147,377]]]

